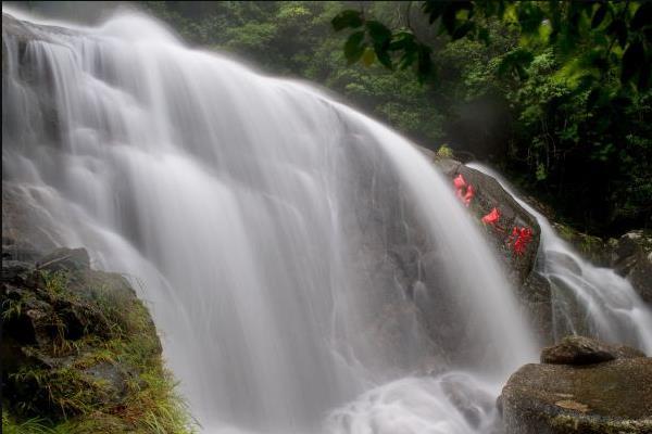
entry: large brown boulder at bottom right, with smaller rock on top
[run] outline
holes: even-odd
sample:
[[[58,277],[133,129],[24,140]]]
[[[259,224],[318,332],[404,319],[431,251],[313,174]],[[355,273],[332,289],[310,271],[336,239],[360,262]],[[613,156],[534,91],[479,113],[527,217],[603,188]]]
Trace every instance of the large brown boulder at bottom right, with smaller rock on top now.
[[[526,365],[503,388],[505,434],[652,432],[652,358],[576,337],[546,348],[541,359],[553,363]]]

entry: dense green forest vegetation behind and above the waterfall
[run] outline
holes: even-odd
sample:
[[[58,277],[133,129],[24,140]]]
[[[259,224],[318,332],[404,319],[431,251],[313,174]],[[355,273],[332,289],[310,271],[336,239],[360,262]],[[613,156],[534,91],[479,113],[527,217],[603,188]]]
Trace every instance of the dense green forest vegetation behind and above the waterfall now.
[[[191,44],[491,163],[577,229],[650,227],[651,3],[137,3]]]

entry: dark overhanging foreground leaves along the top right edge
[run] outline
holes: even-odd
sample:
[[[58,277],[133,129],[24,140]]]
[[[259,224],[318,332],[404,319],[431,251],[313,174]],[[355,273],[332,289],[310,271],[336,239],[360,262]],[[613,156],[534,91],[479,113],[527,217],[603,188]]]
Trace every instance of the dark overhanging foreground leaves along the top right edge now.
[[[490,43],[486,20],[497,17],[505,26],[522,35],[518,50],[506,55],[501,71],[515,71],[522,79],[525,67],[532,60],[531,50],[540,46],[554,47],[561,59],[574,61],[579,58],[587,69],[594,69],[601,77],[613,68],[620,69],[622,85],[631,84],[639,90],[650,86],[650,61],[652,60],[652,7],[647,2],[506,2],[494,1],[423,1],[423,13],[440,35],[451,40],[463,37]],[[416,64],[419,80],[431,69],[430,48],[418,41],[412,29],[390,30],[384,24],[367,20],[363,11],[346,10],[333,18],[335,30],[347,28],[355,31],[349,36],[346,47],[362,52],[373,47],[380,63],[393,68],[392,55],[401,58],[401,64]],[[590,43],[590,47],[587,44]],[[617,46],[616,46],[617,43]],[[348,58],[349,59],[349,58]],[[351,56],[350,62],[360,56]],[[585,78],[593,77],[587,72]]]

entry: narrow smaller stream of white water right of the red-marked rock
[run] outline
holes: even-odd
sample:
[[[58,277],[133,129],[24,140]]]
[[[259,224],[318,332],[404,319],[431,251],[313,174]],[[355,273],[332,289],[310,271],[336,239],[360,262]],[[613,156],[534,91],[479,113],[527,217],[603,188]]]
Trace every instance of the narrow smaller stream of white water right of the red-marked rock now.
[[[567,334],[627,343],[652,355],[652,309],[627,279],[611,268],[585,260],[556,234],[550,221],[519,199],[500,174],[480,164],[468,167],[490,175],[516,202],[537,218],[541,227],[539,272],[552,289],[555,339]]]

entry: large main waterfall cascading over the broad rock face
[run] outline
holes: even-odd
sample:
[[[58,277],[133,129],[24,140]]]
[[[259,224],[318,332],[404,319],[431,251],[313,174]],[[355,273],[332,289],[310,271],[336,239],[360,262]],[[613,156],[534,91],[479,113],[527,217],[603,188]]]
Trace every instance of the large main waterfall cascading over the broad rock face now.
[[[492,429],[536,345],[405,139],[135,13],[74,30],[3,16],[2,40],[3,195],[43,239],[140,279],[205,432]]]

